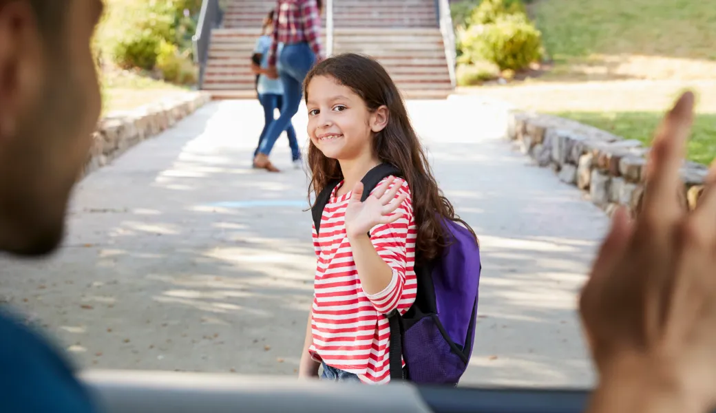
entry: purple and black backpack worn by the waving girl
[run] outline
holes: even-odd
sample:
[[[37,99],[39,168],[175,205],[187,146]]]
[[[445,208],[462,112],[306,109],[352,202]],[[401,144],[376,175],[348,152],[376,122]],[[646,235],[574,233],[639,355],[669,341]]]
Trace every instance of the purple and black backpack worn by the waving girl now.
[[[381,164],[361,180],[362,201],[384,178],[401,177],[396,167]],[[316,233],[333,189],[334,180],[316,197],[311,208]],[[415,196],[415,193],[413,193]],[[420,195],[417,195],[420,196]],[[407,379],[418,384],[457,384],[473,353],[473,339],[480,286],[480,248],[469,230],[451,220],[450,244],[442,256],[427,263],[415,257],[417,296],[402,316],[387,314],[390,321],[390,379]],[[416,253],[417,254],[417,253]],[[406,369],[402,369],[401,356]]]

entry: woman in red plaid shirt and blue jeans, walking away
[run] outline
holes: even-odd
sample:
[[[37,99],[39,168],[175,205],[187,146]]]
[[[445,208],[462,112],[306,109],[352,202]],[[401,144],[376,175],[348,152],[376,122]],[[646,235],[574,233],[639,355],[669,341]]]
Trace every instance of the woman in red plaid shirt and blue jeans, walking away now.
[[[281,79],[284,84],[284,105],[281,115],[271,122],[253,159],[255,167],[271,172],[279,170],[269,161],[274,143],[299,111],[301,85],[316,62],[324,59],[321,44],[321,0],[277,0],[276,24],[271,34],[267,76]],[[276,56],[279,43],[281,54]]]

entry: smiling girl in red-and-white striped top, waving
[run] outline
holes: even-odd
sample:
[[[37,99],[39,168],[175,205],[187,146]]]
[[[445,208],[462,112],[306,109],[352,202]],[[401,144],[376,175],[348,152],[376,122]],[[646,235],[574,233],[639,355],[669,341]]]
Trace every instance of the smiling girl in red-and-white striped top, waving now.
[[[405,314],[415,301],[416,252],[425,260],[442,252],[442,218],[470,227],[437,188],[400,92],[380,64],[357,54],[326,59],[306,76],[304,98],[309,196],[341,182],[319,234],[314,225],[314,301],[299,376],[317,376],[322,365],[322,379],[387,383],[385,315]],[[405,179],[384,179],[361,202],[361,179],[381,163]]]

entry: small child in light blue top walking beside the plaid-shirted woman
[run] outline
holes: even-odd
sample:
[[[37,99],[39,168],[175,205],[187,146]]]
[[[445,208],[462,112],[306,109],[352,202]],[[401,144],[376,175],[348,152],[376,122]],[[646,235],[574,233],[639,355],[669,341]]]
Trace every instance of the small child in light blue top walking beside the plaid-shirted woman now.
[[[271,10],[266,18],[263,19],[263,28],[261,29],[261,37],[256,40],[256,47],[253,49],[253,63],[251,64],[251,70],[256,74],[256,94],[258,95],[258,102],[261,102],[263,107],[263,130],[261,135],[258,136],[258,145],[256,150],[253,151],[253,157],[251,157],[252,164],[253,158],[258,153],[258,148],[261,147],[263,138],[266,137],[266,130],[269,129],[271,122],[274,122],[274,111],[281,108],[284,105],[284,85],[281,84],[280,79],[269,79],[266,76],[266,69],[269,67],[269,49],[271,48],[271,36],[269,33],[273,31],[274,17],[276,11]],[[281,45],[277,47],[278,53],[281,52]],[[303,167],[301,162],[301,149],[299,148],[299,141],[296,139],[296,130],[294,125],[291,124],[289,119],[288,126],[286,127],[286,136],[289,137],[289,147],[291,147],[291,160],[294,162],[294,167],[300,169]],[[256,167],[256,165],[253,165]],[[278,169],[273,165],[267,167],[271,172],[278,172]]]

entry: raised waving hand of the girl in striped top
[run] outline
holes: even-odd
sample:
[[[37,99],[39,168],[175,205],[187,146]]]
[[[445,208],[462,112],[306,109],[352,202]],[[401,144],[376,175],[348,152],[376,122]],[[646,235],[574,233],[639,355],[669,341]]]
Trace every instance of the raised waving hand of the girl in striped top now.
[[[394,211],[407,198],[407,194],[402,193],[396,198],[395,195],[400,191],[400,185],[397,184],[388,190],[394,180],[394,177],[388,178],[364,202],[361,202],[363,183],[359,182],[353,187],[344,218],[348,238],[367,235],[375,225],[393,223],[402,216],[402,212]]]

